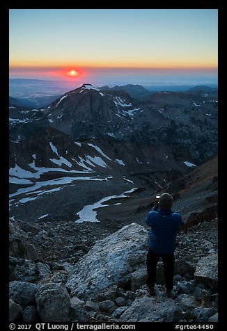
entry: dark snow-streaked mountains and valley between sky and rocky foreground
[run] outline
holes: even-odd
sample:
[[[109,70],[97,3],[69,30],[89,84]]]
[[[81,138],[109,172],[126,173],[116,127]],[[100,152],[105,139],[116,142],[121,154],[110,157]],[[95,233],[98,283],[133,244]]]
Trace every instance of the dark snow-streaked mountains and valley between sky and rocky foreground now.
[[[10,97],[10,217],[143,224],[152,195],[217,156],[217,105],[206,86],[84,84],[39,109]]]

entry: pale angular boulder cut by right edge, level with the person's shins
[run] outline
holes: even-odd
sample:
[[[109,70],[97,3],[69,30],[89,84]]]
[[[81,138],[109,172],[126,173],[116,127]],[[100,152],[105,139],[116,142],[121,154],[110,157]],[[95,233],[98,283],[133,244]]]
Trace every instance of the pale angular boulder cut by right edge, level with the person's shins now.
[[[218,286],[217,253],[211,253],[207,257],[203,257],[198,261],[194,277],[196,280],[201,280],[210,286]]]

